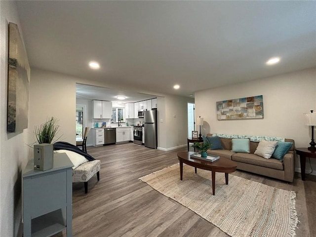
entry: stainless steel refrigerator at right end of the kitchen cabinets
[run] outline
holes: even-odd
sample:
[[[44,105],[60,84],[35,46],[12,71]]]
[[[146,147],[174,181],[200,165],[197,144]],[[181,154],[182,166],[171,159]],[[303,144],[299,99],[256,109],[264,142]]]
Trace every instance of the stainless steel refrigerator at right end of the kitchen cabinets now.
[[[144,111],[145,147],[157,149],[157,110]]]

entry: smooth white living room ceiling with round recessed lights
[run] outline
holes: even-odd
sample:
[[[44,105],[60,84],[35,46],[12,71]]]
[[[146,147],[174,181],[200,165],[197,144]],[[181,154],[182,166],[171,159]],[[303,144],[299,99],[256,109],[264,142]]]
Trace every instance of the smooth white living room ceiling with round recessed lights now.
[[[189,96],[316,66],[316,1],[17,6],[31,67],[104,81],[109,88]],[[280,63],[265,65],[273,56]],[[100,70],[89,69],[90,60]]]

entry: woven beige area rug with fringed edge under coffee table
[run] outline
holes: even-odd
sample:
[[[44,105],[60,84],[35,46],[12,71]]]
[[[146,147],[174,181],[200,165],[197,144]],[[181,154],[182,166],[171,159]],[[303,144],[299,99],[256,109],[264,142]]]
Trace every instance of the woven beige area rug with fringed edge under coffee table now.
[[[215,196],[211,172],[174,164],[139,178],[166,197],[188,207],[232,237],[292,237],[298,218],[293,191],[216,173]]]

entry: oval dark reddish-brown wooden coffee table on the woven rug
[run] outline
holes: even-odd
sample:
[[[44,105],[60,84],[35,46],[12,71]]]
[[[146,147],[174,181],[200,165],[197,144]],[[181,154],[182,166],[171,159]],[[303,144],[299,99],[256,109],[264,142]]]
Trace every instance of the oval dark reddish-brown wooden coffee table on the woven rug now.
[[[215,195],[215,173],[222,172],[225,173],[225,181],[228,184],[228,173],[236,171],[237,164],[233,160],[227,158],[219,158],[213,162],[191,158],[190,155],[194,152],[178,152],[177,156],[180,161],[180,180],[182,180],[183,174],[183,163],[195,167],[197,173],[197,168],[212,171],[212,190],[213,195]]]

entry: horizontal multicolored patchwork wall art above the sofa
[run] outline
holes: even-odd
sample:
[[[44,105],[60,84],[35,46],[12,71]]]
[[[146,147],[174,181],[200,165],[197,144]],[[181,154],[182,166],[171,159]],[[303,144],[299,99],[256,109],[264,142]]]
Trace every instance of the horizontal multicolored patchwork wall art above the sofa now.
[[[251,96],[216,102],[217,119],[263,118],[263,96]]]

